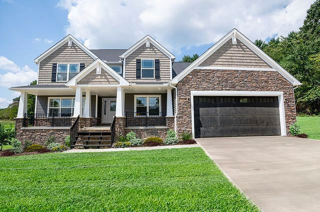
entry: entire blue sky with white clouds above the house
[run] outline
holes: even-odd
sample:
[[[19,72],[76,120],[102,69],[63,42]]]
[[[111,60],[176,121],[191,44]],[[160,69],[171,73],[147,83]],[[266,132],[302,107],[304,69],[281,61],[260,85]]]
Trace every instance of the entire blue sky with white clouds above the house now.
[[[203,53],[233,27],[251,40],[286,35],[313,2],[187,1],[0,0],[0,108],[19,95],[8,87],[36,79],[33,59],[68,33],[89,48],[128,48],[150,34],[179,60]]]

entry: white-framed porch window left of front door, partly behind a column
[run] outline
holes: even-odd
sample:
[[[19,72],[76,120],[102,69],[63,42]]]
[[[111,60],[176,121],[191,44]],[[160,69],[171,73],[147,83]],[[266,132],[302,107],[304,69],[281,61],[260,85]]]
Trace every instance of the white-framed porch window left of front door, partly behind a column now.
[[[71,116],[74,109],[74,98],[69,97],[53,97],[48,100],[48,113],[58,114],[58,116]],[[84,98],[82,98],[82,112],[83,112]]]

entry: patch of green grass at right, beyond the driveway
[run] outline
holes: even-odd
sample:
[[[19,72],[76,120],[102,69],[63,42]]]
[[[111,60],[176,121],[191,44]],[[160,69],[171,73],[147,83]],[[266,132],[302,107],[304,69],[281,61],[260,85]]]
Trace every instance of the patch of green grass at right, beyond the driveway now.
[[[297,116],[296,121],[309,138],[320,139],[320,116]]]

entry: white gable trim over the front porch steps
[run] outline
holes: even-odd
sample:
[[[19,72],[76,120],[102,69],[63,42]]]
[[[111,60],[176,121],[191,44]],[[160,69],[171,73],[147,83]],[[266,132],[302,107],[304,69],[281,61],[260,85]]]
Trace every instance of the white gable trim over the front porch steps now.
[[[90,73],[94,68],[96,67],[102,67],[108,74],[110,74],[113,78],[115,78],[119,85],[129,85],[129,82],[124,79],[121,75],[119,75],[117,72],[115,72],[112,68],[110,68],[109,65],[107,65],[103,60],[100,58],[95,59],[93,62],[91,62],[88,66],[86,66],[83,70],[81,70],[78,74],[76,74],[74,77],[72,77],[69,81],[65,83],[66,86],[75,86],[76,83],[81,80],[84,76],[86,76],[88,73]],[[102,70],[101,70],[102,71]]]

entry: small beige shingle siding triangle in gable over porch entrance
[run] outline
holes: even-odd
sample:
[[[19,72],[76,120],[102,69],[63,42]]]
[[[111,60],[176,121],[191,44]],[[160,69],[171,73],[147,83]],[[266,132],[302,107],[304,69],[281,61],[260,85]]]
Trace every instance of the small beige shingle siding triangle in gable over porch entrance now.
[[[101,68],[101,74],[96,74],[96,70],[92,70],[84,76],[77,84],[118,84],[119,82]]]

